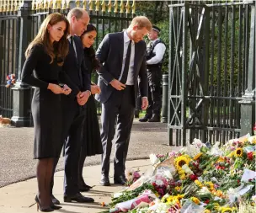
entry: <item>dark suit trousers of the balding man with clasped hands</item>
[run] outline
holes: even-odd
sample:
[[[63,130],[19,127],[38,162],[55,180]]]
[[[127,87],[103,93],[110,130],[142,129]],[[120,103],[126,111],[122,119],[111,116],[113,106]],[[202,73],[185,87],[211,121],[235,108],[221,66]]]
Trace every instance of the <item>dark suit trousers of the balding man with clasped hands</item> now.
[[[78,165],[82,143],[83,122],[85,115],[83,108],[77,105],[77,109],[70,109],[63,114],[63,137],[66,139],[64,144],[65,152],[65,175],[64,175],[64,194],[73,195],[79,192],[78,189]],[[63,140],[64,141],[64,140]],[[61,153],[60,153],[61,155]],[[54,163],[54,172],[58,158]],[[51,186],[53,188],[53,176]]]

